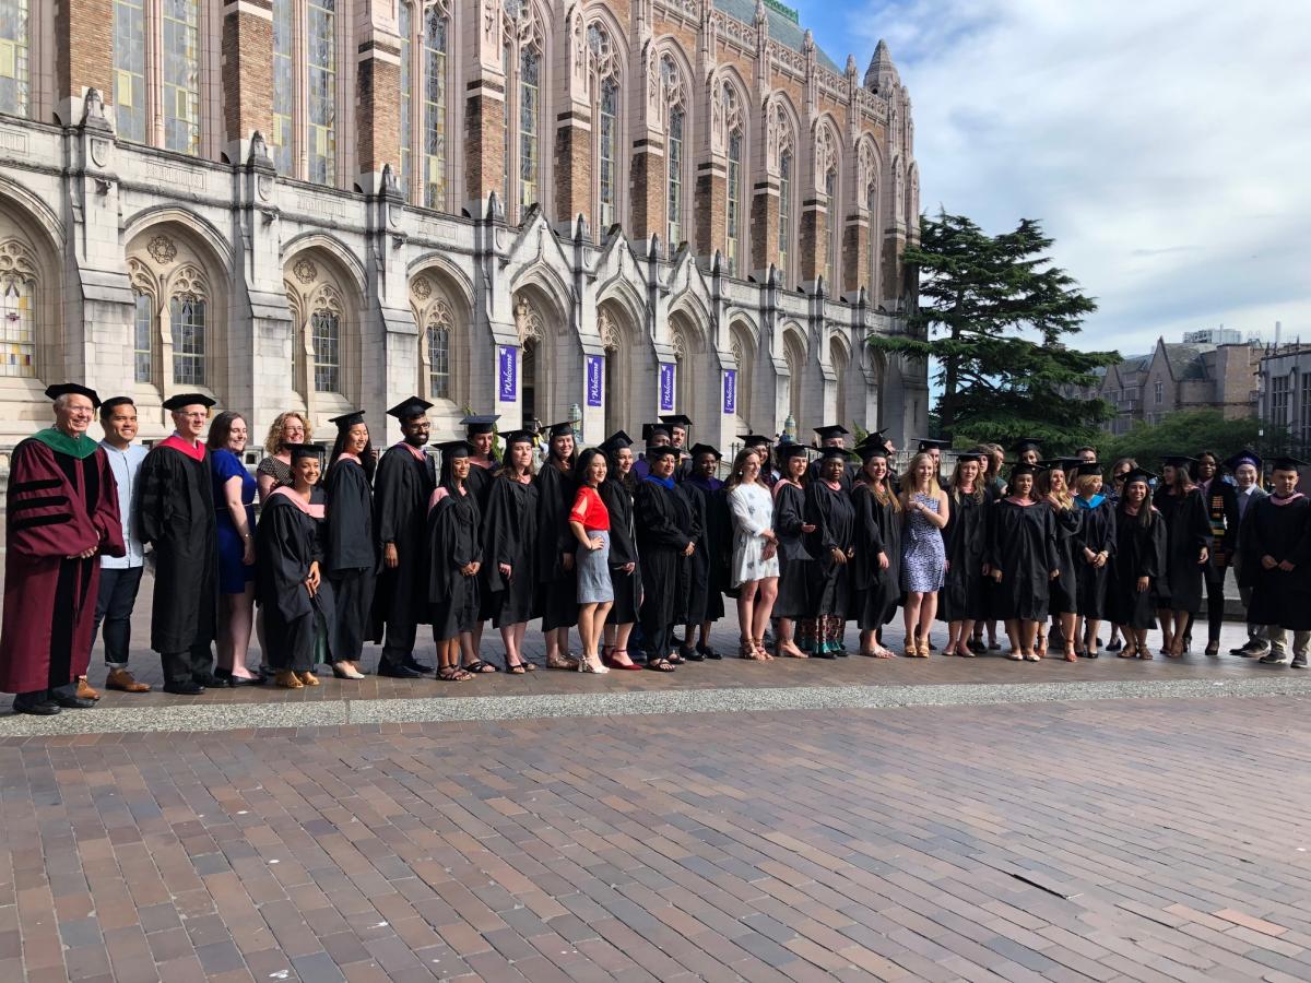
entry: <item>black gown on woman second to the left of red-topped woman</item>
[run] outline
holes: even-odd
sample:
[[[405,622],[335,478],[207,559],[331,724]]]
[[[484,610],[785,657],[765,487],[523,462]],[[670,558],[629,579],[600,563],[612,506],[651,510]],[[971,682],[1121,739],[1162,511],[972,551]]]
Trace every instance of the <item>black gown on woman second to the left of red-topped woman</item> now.
[[[472,473],[472,472],[471,472]],[[538,596],[538,486],[496,478],[482,512],[484,611],[497,628],[531,621]],[[501,564],[510,577],[501,574]]]

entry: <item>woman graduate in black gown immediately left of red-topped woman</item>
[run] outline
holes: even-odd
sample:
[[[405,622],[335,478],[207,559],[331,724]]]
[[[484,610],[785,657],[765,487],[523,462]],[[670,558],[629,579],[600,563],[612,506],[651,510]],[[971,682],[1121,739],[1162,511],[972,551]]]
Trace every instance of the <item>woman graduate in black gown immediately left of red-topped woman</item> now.
[[[573,423],[552,423],[547,460],[534,478],[538,486],[538,609],[547,640],[547,668],[578,668],[569,654],[569,629],[578,624],[577,540],[569,530],[573,468],[578,460]]]

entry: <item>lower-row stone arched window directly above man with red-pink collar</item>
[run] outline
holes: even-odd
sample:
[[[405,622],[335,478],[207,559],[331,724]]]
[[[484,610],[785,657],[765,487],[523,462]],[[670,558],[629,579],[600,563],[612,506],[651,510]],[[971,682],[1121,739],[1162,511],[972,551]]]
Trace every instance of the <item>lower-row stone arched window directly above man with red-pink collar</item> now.
[[[215,250],[205,223],[184,215],[161,210],[157,222],[130,227],[126,260],[134,296],[125,347],[144,405],[197,389],[225,405],[232,391],[227,257]]]

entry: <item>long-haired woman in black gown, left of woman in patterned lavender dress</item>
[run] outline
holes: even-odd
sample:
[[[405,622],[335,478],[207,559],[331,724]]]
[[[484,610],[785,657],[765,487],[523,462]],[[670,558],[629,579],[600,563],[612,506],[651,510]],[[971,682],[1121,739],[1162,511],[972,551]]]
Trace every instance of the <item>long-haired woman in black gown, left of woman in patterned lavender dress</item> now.
[[[851,616],[860,629],[860,654],[890,659],[882,629],[901,604],[901,499],[891,488],[891,468],[881,439],[856,448],[864,459],[851,490],[856,543],[851,566]]]

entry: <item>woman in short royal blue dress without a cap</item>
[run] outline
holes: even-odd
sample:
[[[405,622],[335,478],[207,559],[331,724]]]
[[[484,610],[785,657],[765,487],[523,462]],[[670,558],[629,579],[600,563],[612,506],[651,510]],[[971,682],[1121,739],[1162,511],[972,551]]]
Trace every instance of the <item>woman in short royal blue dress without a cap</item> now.
[[[210,473],[219,532],[219,651],[215,680],[246,685],[260,679],[246,668],[254,619],[254,477],[241,463],[248,429],[231,410],[210,425]]]

